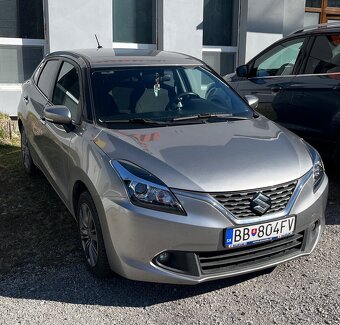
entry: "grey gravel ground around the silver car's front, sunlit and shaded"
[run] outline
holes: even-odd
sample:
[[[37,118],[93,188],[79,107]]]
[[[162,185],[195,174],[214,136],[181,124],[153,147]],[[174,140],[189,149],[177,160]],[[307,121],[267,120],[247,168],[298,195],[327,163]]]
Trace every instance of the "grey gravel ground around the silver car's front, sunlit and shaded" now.
[[[0,324],[340,324],[340,184],[331,183],[326,229],[312,255],[198,286],[99,280],[80,251],[0,278]],[[62,238],[59,251],[67,246]],[[58,256],[56,256],[56,259]]]

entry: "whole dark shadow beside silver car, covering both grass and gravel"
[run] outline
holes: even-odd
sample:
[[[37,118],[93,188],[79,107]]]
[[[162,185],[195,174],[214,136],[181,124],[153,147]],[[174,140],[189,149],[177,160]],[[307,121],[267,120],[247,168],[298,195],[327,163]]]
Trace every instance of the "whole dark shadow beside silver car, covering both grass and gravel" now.
[[[218,291],[265,272],[197,286],[97,279],[84,266],[76,224],[43,175],[29,178],[17,147],[0,148],[0,295],[73,304],[147,307]],[[4,159],[6,158],[6,159]],[[332,181],[326,223],[339,225]]]

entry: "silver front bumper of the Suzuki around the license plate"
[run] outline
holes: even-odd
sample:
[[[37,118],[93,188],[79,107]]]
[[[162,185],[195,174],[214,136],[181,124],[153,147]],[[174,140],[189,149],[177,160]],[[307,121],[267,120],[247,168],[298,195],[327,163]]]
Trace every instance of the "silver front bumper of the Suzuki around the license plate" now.
[[[133,280],[197,284],[258,271],[308,255],[324,228],[328,178],[325,175],[319,189],[313,193],[312,174],[308,173],[299,180],[281,214],[242,220],[233,217],[209,195],[177,190],[174,193],[187,216],[137,207],[127,198],[102,199],[104,241],[115,272]],[[255,252],[259,245],[241,250],[227,250],[223,246],[227,228],[290,215],[296,216],[294,234],[261,244],[264,247],[259,254]],[[162,252],[168,252],[175,262],[160,263],[156,257]],[[229,252],[236,254],[234,259],[230,260]],[[211,263],[216,260],[219,261],[216,265]]]

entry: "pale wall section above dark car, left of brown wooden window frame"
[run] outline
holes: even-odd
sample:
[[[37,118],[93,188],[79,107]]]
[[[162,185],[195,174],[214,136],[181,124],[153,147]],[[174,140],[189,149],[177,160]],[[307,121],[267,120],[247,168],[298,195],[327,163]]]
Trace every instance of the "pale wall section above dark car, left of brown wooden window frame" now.
[[[283,36],[302,28],[304,7],[304,0],[248,0],[245,62]]]

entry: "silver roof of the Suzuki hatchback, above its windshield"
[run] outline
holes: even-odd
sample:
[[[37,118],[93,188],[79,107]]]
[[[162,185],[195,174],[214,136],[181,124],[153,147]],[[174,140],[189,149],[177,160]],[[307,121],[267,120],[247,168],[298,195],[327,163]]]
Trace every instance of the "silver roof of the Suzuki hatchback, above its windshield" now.
[[[49,54],[48,57],[68,56],[73,59],[82,58],[91,67],[119,67],[119,66],[176,66],[176,65],[204,65],[202,61],[192,56],[158,50],[135,49],[81,49],[72,51],[59,51]]]

